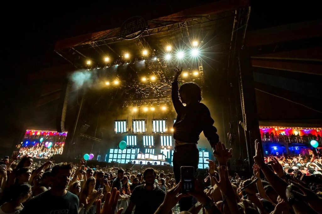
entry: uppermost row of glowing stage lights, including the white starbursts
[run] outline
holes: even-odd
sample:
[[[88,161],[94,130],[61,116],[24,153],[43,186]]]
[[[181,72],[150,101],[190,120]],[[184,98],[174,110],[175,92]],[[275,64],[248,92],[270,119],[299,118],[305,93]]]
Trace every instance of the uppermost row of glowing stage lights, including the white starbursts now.
[[[189,53],[190,53],[190,55],[192,56],[192,57],[197,57],[198,55],[199,55],[199,49],[198,49],[198,46],[199,45],[199,42],[198,41],[193,41],[192,42],[192,46],[194,47],[194,48],[192,48],[192,49],[190,49],[190,51],[189,51]],[[165,47],[165,50],[166,50],[166,54],[164,55],[164,58],[166,59],[166,60],[170,60],[170,59],[172,59],[173,58],[173,55],[171,54],[171,51],[172,51],[172,46],[171,45],[168,45],[168,46],[166,46]],[[147,49],[144,49],[144,50],[142,50],[142,56],[143,57],[148,57],[148,55],[149,55],[149,51],[147,50]],[[183,50],[177,50],[176,52],[175,52],[175,57],[177,58],[177,59],[183,59],[183,58],[185,58],[185,56],[186,56],[186,52],[185,51],[183,51]],[[126,60],[128,60],[128,59],[130,59],[131,58],[131,55],[130,55],[130,53],[129,52],[125,52],[124,54],[123,54],[123,56],[122,57],[124,57]],[[109,57],[109,56],[105,56],[104,58],[103,58],[103,60],[104,60],[104,62],[105,63],[110,63],[111,62],[111,58]],[[154,57],[153,58],[153,60],[157,60],[157,57]],[[128,64],[128,63],[127,63]],[[90,66],[90,65],[92,65],[92,61],[90,60],[90,59],[88,59],[88,60],[86,60],[86,65],[87,66]],[[118,64],[117,65],[115,65],[115,66],[118,66]]]

